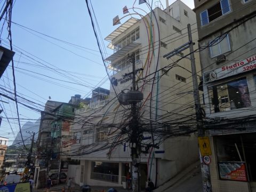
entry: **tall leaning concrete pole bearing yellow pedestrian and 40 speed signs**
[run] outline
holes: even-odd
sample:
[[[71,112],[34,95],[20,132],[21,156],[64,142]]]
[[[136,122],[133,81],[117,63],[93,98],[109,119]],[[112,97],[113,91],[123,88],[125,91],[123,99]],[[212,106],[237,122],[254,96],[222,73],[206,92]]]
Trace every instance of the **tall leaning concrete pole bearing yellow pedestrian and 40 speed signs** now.
[[[204,129],[203,129],[203,122],[202,122],[201,105],[200,105],[197,75],[196,75],[196,63],[195,63],[194,48],[193,48],[193,41],[192,41],[192,34],[191,34],[190,24],[188,24],[187,27],[188,27],[188,40],[190,42],[189,52],[190,52],[190,61],[191,61],[191,72],[192,72],[192,78],[193,78],[197,133],[198,133],[198,137],[204,137],[205,132],[204,132]],[[211,192],[212,191],[212,185],[211,185],[210,166],[204,163],[203,157],[202,157],[200,151],[199,151],[199,154],[200,154],[202,181],[203,181],[203,191],[204,192]]]

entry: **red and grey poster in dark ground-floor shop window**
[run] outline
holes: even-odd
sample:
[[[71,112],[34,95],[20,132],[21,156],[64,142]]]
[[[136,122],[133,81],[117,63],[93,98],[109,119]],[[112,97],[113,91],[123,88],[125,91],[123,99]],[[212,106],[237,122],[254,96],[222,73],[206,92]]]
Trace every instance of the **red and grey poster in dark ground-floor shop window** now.
[[[220,179],[247,181],[244,162],[219,162]]]

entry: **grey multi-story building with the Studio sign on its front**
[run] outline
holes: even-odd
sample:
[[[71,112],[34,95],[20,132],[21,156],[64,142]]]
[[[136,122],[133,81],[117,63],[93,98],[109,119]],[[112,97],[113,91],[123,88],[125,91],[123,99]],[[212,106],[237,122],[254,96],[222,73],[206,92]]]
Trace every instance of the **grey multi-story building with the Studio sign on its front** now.
[[[256,191],[253,0],[195,0],[213,191]]]

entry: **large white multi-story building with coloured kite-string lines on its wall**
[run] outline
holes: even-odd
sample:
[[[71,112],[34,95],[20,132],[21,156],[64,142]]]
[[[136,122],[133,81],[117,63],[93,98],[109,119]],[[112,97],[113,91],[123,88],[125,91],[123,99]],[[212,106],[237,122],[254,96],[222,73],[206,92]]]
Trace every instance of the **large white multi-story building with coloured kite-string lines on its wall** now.
[[[75,118],[72,129],[79,134],[79,142],[71,148],[72,158],[81,162],[77,167],[81,174],[74,175],[79,185],[122,186],[127,172],[132,172],[129,139],[125,137],[129,133],[120,128],[127,123],[130,110],[117,100],[119,93],[132,86],[131,76],[125,75],[132,71],[129,61],[132,53],[138,70],[137,87],[144,95],[140,105],[141,121],[149,124],[151,119],[162,134],[154,136],[155,143],[161,143],[157,144],[159,149],[152,147],[151,140],[143,141],[148,149],[138,162],[141,188],[146,186],[147,178],[156,186],[163,185],[198,161],[197,139],[189,134],[195,129],[195,118],[191,116],[195,114],[193,94],[190,94],[193,92],[191,65],[189,59],[181,59],[189,50],[170,60],[163,58],[164,54],[188,42],[187,24],[196,23],[195,13],[178,0],[165,10],[156,7],[141,19],[124,17],[123,20],[121,26],[105,38],[108,47],[113,49],[113,54],[106,58],[111,71],[108,102],[99,108],[76,110],[79,118]],[[196,24],[191,28],[196,41]],[[199,71],[198,54],[195,57]],[[83,123],[78,123],[81,118]],[[175,137],[167,138],[168,134]],[[143,135],[151,134],[145,131]]]

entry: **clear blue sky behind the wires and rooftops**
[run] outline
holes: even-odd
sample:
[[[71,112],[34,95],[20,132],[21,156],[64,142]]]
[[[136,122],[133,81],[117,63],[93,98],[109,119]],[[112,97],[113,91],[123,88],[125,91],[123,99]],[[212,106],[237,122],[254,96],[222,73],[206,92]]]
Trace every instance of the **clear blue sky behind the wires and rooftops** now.
[[[0,1],[1,7],[3,2]],[[54,101],[68,102],[75,94],[90,97],[91,90],[98,85],[109,89],[109,81],[106,79],[106,70],[100,57],[85,0],[14,2],[11,32],[15,52],[15,82],[19,96],[38,103],[39,105],[35,104],[34,107],[44,110],[43,106],[49,97]],[[169,0],[169,4],[173,2],[174,0]],[[194,1],[182,2],[191,9],[194,8]],[[166,1],[163,0],[161,3],[166,7]],[[118,27],[113,26],[113,18],[116,15],[122,18],[123,7],[126,5],[130,9],[134,1],[94,0],[91,4],[101,33],[100,39],[106,47],[108,42],[103,38]],[[157,4],[159,5],[159,1],[153,1],[153,8]],[[145,4],[138,5],[138,1],[134,6],[149,12],[148,7]],[[127,19],[129,17],[123,18],[121,23]],[[1,45],[10,49],[7,25],[3,19],[0,26],[4,26],[0,36]],[[106,51],[108,55],[113,53],[108,48]],[[0,93],[14,98],[11,66],[10,62],[0,79]],[[26,100],[20,101],[28,103]],[[15,103],[3,96],[0,97],[0,105],[4,109],[1,113],[3,120],[0,133],[2,137],[9,138],[11,145],[14,135],[19,131],[17,110]],[[40,117],[38,111],[20,104],[18,108],[21,126],[29,121],[28,119]]]

